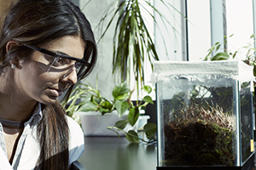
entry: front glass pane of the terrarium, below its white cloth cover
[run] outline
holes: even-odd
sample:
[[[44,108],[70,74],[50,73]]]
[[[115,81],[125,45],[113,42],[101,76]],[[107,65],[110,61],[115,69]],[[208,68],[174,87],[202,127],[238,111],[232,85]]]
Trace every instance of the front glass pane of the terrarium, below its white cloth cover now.
[[[229,82],[231,86],[219,87],[220,82]],[[160,166],[235,165],[235,85],[233,79],[218,81],[218,88],[184,78],[173,81],[171,86],[157,83],[159,118],[163,124]]]

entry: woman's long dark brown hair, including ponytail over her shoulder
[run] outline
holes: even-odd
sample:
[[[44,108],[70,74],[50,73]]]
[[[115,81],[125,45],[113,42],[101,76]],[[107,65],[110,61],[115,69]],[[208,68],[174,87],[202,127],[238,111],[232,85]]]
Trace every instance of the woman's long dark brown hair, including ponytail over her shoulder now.
[[[86,44],[84,59],[96,64],[96,42],[90,23],[69,0],[20,0],[6,15],[0,37],[0,74],[10,72],[10,59],[30,59],[32,49],[16,46],[6,52],[10,40],[25,44],[43,45],[65,36],[79,36]],[[9,83],[10,84],[10,83]],[[72,87],[73,88],[73,87]],[[66,98],[72,88],[67,91]],[[43,119],[38,123],[41,153],[37,169],[63,170],[68,168],[68,127],[65,111],[58,102],[44,106]]]

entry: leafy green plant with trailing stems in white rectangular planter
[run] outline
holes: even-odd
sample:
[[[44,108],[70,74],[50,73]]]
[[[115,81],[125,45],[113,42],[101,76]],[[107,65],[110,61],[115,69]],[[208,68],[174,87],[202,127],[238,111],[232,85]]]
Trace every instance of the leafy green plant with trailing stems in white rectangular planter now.
[[[96,88],[93,88],[89,82],[79,82],[78,85],[73,88],[71,97],[67,99],[67,102],[63,102],[62,105],[66,108],[68,115],[72,116],[77,122],[80,122],[79,115],[82,119],[83,116],[87,116],[87,119],[89,119],[90,116],[93,116],[94,119],[96,116],[100,117],[100,119],[106,117],[108,121],[107,119],[104,119],[103,122],[98,122],[98,127],[101,128],[103,123],[110,122],[108,131],[111,132],[110,130],[112,130],[117,133],[118,136],[124,134],[126,139],[130,142],[137,143],[139,140],[144,142],[154,141],[154,133],[156,131],[155,124],[147,123],[144,126],[143,130],[144,133],[146,133],[147,140],[139,138],[137,131],[134,128],[136,127],[140,116],[140,109],[148,105],[148,103],[152,104],[153,101],[151,97],[147,95],[138,103],[138,105],[134,105],[130,99],[131,94],[129,89],[127,82],[121,82],[115,85],[112,91],[113,99],[110,100],[102,97],[97,86]],[[152,91],[152,88],[144,86],[143,90],[149,94]],[[98,121],[98,119],[96,121]],[[95,122],[91,124],[95,124]],[[84,130],[87,130],[86,125],[82,124],[82,127]],[[107,126],[103,126],[102,128],[103,133],[106,133],[105,130],[107,129]],[[102,133],[99,135],[102,135]]]

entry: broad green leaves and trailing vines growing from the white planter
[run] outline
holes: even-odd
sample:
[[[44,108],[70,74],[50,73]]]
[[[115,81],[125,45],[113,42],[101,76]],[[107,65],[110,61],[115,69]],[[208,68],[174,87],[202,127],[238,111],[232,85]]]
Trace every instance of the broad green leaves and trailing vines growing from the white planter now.
[[[152,92],[152,88],[149,86],[144,86],[143,89],[145,89],[145,91],[148,93]],[[94,88],[89,82],[79,82],[73,89],[72,95],[67,100],[67,103],[63,102],[62,105],[64,108],[66,108],[68,116],[72,116],[73,118],[75,116],[73,113],[77,111],[100,111],[103,116],[108,112],[116,110],[119,114],[119,117],[122,116],[125,111],[129,111],[128,120],[118,121],[113,127],[108,127],[108,129],[113,130],[118,135],[118,131],[122,131],[126,133],[126,138],[130,142],[137,143],[140,139],[138,138],[137,133],[133,131],[125,132],[124,128],[128,123],[131,124],[131,126],[136,124],[138,117],[140,116],[139,111],[148,105],[148,103],[154,104],[152,98],[147,95],[142,99],[140,103],[133,105],[130,100],[131,95],[127,82],[121,82],[115,85],[113,88],[112,96],[113,100],[106,99],[102,97],[100,91],[97,88]],[[153,126],[151,125],[151,128],[152,127]],[[146,130],[146,133],[148,133],[148,139],[154,139],[154,133],[152,132],[155,131],[156,126],[154,129],[151,129],[151,133],[148,133],[149,131]]]

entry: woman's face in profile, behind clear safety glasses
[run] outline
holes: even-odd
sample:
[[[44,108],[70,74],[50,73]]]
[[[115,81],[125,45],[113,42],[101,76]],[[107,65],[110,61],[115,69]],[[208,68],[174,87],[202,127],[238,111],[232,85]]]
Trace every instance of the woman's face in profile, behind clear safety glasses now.
[[[40,48],[82,59],[85,44],[79,37],[67,36],[49,42]],[[38,101],[50,105],[55,103],[57,97],[60,97],[67,88],[77,82],[75,69],[67,77],[63,77],[67,71],[73,69],[74,60],[69,63],[67,69],[58,70],[52,69],[55,65],[49,65],[52,59],[55,58],[35,51],[30,60],[20,61],[15,68],[15,88],[20,99],[25,102]]]

